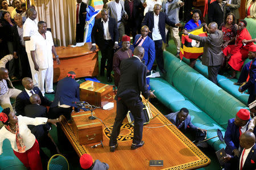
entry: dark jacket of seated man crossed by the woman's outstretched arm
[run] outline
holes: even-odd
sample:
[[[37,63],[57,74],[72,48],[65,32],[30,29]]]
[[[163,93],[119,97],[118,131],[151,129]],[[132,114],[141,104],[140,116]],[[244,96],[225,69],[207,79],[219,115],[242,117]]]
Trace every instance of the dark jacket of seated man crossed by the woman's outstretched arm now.
[[[24,116],[27,117],[46,117],[47,114],[47,108],[43,107],[42,105],[38,104],[28,104],[24,108]],[[41,141],[43,141],[43,138],[47,135],[48,130],[50,129],[49,124],[46,125],[28,125],[28,128],[31,130],[31,133],[35,135],[36,139],[40,143],[40,145],[43,145]]]

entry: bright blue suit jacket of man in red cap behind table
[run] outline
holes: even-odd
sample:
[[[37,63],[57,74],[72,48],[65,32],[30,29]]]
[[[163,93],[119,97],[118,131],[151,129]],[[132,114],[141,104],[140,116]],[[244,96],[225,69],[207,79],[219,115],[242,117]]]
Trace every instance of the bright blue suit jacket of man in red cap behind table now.
[[[139,37],[141,37],[140,34],[135,36],[134,43],[136,43],[139,40]],[[142,46],[145,50],[144,57],[142,60],[145,61],[147,70],[151,70],[152,65],[154,64],[155,61],[155,42],[149,36],[147,36]]]

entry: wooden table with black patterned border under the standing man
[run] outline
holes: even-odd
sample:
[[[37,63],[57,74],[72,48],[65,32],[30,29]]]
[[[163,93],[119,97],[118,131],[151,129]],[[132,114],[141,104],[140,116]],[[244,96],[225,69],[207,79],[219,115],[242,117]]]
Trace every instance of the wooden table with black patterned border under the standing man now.
[[[91,148],[91,145],[79,145],[72,126],[63,119],[61,129],[75,148],[77,154],[90,154],[93,159],[109,164],[110,169],[196,169],[205,167],[210,159],[197,148],[179,129],[171,124],[152,104],[150,104],[153,116],[159,114],[154,120],[143,128],[144,146],[137,150],[130,150],[133,127],[124,123],[118,141],[118,148],[115,152],[109,151],[110,133],[102,125],[104,148],[98,146]],[[105,122],[106,126],[112,129],[115,117],[115,107],[110,110],[96,109],[95,115]],[[82,112],[81,112],[82,114]],[[89,117],[89,116],[88,116]],[[127,122],[125,119],[123,122]],[[161,128],[154,128],[162,126]],[[149,167],[150,160],[163,160],[163,167]]]

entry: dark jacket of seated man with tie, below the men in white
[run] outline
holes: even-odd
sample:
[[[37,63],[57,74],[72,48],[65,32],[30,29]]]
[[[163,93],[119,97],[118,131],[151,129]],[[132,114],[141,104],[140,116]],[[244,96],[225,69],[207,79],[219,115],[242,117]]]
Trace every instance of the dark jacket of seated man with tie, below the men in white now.
[[[52,102],[49,101],[46,97],[44,97],[42,95],[42,92],[39,90],[38,87],[34,87],[33,91],[35,92],[35,94],[39,95],[39,97],[41,99],[41,105],[46,105],[46,106],[50,106],[51,105]],[[26,107],[26,105],[28,105],[28,104],[31,104],[30,103],[30,96],[28,96],[26,90],[23,90],[16,97],[16,101],[15,101],[15,111],[16,111],[16,114],[24,116],[24,107]]]

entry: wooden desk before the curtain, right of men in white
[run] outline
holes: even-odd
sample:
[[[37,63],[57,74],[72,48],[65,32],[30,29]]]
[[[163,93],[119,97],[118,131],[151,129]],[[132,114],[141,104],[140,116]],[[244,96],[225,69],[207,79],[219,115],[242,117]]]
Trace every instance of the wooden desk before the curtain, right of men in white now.
[[[53,62],[53,82],[67,76],[68,71],[75,71],[76,77],[98,75],[98,49],[90,51],[92,44],[87,42],[84,46],[57,46],[60,65]],[[56,60],[53,56],[53,60]]]

